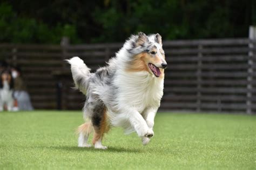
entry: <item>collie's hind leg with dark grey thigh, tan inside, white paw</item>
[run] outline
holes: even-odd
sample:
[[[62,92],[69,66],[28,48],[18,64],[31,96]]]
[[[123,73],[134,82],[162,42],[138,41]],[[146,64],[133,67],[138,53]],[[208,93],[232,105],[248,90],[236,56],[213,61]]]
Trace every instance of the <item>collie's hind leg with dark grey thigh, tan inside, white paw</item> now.
[[[109,131],[109,124],[107,122],[106,108],[104,105],[98,105],[94,109],[92,124],[94,129],[92,143],[95,148],[106,149],[102,145],[102,139],[105,132]]]

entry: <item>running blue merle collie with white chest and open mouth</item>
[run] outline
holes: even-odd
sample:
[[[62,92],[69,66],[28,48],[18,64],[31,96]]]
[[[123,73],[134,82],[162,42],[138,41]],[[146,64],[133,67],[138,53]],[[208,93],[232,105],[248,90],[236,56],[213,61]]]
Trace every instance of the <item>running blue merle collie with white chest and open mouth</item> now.
[[[90,147],[87,139],[94,132],[94,147],[106,149],[102,139],[111,126],[121,126],[126,133],[137,132],[146,145],[154,135],[154,117],[164,89],[167,63],[161,36],[132,35],[116,57],[95,73],[79,57],[68,63],[76,88],[86,95],[78,146]]]

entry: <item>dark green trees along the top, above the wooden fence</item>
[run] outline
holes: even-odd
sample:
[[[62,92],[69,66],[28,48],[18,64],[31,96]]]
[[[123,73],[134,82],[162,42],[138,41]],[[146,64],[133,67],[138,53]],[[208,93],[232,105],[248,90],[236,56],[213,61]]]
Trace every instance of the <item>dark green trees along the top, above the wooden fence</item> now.
[[[0,3],[0,42],[123,42],[132,33],[164,39],[247,37],[254,0],[11,0]]]

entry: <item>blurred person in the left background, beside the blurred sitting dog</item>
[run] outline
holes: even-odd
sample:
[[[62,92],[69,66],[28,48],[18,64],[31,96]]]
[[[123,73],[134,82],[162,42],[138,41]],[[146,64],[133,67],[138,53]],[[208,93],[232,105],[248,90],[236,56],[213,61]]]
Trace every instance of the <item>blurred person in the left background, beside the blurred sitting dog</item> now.
[[[29,93],[26,90],[26,85],[22,79],[21,69],[19,67],[12,67],[12,77],[14,78],[14,98],[16,99],[18,110],[33,110],[30,101]]]

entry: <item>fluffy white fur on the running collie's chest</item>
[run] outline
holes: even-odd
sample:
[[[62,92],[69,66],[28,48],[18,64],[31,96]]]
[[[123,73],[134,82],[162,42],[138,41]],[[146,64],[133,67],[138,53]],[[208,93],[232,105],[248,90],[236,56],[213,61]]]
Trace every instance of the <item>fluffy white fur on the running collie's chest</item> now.
[[[164,79],[142,72],[120,71],[114,79],[118,87],[120,107],[133,107],[142,113],[147,107],[159,107],[163,96]]]

